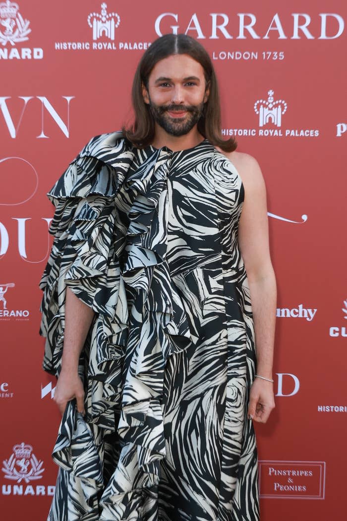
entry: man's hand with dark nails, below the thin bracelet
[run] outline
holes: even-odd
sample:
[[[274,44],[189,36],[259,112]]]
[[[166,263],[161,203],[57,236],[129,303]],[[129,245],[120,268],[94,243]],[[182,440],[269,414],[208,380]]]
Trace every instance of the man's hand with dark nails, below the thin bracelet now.
[[[248,414],[260,423],[266,423],[275,407],[274,384],[261,378],[254,378],[250,390]]]

